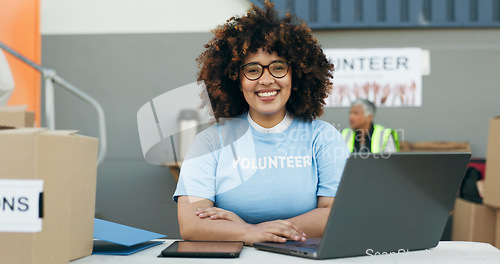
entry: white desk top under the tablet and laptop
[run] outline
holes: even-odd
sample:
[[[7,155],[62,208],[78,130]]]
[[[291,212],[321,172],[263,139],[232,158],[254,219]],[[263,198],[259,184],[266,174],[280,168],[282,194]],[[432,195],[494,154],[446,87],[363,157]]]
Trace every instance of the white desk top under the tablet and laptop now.
[[[316,260],[260,251],[244,247],[239,258],[158,258],[160,252],[174,240],[137,252],[130,256],[91,255],[70,262],[70,264],[143,264],[143,263],[312,263]],[[431,250],[414,251],[401,254],[362,256],[341,259],[321,260],[321,263],[500,263],[500,250],[490,244],[476,242],[440,242]]]

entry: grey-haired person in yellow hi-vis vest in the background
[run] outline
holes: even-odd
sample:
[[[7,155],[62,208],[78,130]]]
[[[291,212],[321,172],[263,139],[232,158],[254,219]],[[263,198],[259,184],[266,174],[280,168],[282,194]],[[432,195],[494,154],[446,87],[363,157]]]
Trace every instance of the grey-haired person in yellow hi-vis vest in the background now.
[[[397,152],[399,137],[395,130],[374,124],[375,105],[366,99],[357,99],[349,111],[350,128],[342,136],[350,152]]]

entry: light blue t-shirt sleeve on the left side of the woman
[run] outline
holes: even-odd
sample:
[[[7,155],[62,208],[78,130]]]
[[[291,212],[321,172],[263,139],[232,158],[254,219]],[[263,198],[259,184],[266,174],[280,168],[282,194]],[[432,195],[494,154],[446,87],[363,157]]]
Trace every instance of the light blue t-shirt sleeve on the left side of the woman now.
[[[215,172],[217,168],[217,133],[214,129],[198,134],[182,162],[179,181],[173,195],[197,196],[215,201]]]

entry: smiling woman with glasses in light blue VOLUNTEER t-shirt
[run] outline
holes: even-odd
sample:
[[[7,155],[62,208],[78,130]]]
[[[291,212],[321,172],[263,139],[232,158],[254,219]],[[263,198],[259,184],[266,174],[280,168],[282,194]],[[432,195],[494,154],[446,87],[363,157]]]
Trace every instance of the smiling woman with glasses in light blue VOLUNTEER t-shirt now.
[[[323,234],[348,157],[323,113],[333,65],[273,4],[214,30],[198,58],[214,116],[174,194],[185,240],[305,241]]]

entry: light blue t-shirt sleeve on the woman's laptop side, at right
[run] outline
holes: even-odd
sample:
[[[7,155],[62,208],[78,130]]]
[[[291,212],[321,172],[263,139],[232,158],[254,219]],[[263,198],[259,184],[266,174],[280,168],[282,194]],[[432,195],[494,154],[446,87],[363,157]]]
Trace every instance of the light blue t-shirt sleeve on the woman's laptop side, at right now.
[[[315,158],[318,169],[317,196],[335,197],[349,149],[339,131],[325,124],[318,133],[315,144]]]

